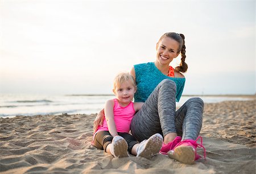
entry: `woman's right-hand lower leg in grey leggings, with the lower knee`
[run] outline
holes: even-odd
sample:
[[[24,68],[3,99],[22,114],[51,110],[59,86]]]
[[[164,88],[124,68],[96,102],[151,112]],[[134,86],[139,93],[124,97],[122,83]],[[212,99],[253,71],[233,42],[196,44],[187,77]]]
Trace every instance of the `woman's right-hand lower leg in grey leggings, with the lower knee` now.
[[[185,139],[197,139],[203,122],[204,102],[201,98],[190,98],[176,111],[177,135]]]

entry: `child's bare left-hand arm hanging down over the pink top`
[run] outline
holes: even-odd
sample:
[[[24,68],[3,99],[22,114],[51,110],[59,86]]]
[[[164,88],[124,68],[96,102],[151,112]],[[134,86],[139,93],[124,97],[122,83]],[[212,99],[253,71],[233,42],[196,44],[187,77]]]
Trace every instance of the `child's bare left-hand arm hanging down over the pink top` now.
[[[104,107],[104,113],[106,117],[106,122],[108,124],[108,129],[110,134],[114,137],[117,136],[117,128],[115,127],[114,122],[114,100],[108,100],[106,101],[105,107]]]

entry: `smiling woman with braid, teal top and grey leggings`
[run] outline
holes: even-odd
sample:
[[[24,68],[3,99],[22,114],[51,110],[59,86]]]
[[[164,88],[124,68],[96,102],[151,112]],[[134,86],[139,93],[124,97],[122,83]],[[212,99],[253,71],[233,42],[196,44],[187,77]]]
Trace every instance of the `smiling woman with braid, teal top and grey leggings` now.
[[[185,84],[182,73],[188,68],[184,39],[183,34],[164,34],[156,44],[155,62],[134,65],[131,69],[137,83],[134,100],[144,102],[131,121],[131,133],[139,142],[153,134],[162,134],[164,143],[160,152],[181,163],[192,164],[200,158],[196,154],[197,146],[203,147],[196,140],[200,138],[204,103],[200,98],[191,98],[175,111]],[[179,54],[180,65],[170,67]],[[97,115],[94,127],[102,115],[103,111]]]

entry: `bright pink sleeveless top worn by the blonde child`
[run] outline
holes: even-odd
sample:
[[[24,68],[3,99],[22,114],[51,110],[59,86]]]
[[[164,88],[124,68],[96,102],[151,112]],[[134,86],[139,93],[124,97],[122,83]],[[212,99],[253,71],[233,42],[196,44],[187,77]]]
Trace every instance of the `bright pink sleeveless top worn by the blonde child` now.
[[[115,127],[117,128],[117,132],[129,133],[131,119],[133,118],[133,116],[135,114],[133,102],[130,102],[129,105],[122,107],[119,105],[117,99],[115,98],[113,111],[114,111],[114,122],[115,122]],[[103,125],[98,126],[98,129],[94,135],[96,135],[97,132],[99,132],[99,131],[108,131],[108,130],[109,130],[108,124],[107,124],[106,118],[105,118]]]

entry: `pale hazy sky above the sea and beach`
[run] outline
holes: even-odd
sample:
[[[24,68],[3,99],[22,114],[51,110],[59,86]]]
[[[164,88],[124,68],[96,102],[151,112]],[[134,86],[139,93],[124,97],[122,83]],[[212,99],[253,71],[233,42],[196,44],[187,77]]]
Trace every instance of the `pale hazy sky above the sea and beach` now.
[[[255,94],[246,0],[0,0],[0,93],[112,94],[117,73],[155,61],[166,32],[185,35],[183,94]]]

